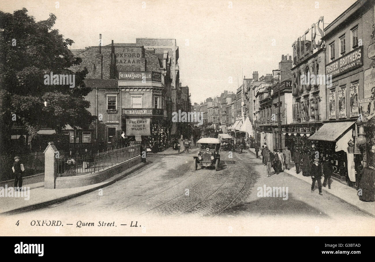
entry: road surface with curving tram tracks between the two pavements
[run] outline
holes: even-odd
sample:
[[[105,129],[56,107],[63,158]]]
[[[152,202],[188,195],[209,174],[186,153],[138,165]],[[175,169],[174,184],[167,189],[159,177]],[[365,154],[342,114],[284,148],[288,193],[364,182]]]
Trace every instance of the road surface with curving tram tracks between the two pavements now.
[[[266,176],[254,154],[222,151],[220,170],[193,171],[196,153],[153,155],[147,165],[98,191],[28,212],[42,215],[96,213],[141,216],[299,216],[304,218],[371,217],[336,196],[310,192],[308,183],[286,173]],[[288,187],[283,197],[258,197],[258,187]],[[332,186],[335,186],[335,182]],[[102,191],[101,191],[102,190]],[[31,192],[32,193],[32,192]]]

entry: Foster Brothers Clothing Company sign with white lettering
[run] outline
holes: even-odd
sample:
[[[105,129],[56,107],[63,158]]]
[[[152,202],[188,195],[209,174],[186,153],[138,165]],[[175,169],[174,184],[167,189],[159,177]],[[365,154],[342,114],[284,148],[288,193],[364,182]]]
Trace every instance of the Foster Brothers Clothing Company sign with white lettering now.
[[[326,74],[336,77],[363,65],[363,46],[326,65]]]

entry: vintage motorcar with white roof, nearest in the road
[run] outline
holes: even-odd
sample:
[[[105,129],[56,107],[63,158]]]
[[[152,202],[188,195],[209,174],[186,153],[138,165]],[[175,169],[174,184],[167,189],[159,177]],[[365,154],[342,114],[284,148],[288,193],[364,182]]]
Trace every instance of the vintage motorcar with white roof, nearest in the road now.
[[[220,140],[213,137],[205,137],[199,139],[198,153],[194,156],[194,170],[197,170],[198,165],[201,167],[215,167],[219,170],[220,167]]]

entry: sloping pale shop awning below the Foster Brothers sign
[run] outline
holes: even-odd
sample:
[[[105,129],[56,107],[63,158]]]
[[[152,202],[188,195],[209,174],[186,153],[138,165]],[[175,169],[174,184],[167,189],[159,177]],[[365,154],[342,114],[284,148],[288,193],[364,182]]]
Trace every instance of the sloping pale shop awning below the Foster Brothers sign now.
[[[331,122],[324,123],[317,132],[315,132],[309,140],[321,140],[321,141],[336,141],[340,135],[344,134],[355,122],[357,121],[345,121],[345,122]]]

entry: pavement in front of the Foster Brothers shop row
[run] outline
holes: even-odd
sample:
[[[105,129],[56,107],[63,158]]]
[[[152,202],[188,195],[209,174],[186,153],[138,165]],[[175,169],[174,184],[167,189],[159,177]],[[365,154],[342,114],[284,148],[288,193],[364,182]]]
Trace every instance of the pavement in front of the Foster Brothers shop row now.
[[[255,155],[255,149],[251,148],[249,149],[250,152],[254,153]],[[260,155],[260,154],[259,154]],[[259,156],[259,161],[261,161],[262,156]],[[266,168],[266,167],[264,167]],[[305,181],[306,183],[310,184],[312,183],[311,177],[304,177],[302,176],[302,171],[297,174],[296,173],[296,167],[291,168],[290,170],[284,170],[284,173],[289,174],[291,176],[297,177],[298,179],[301,179]],[[362,211],[365,211],[366,213],[371,214],[375,217],[375,202],[363,202],[359,200],[359,196],[357,195],[357,190],[354,188],[351,188],[350,186],[345,185],[344,183],[339,182],[338,179],[331,178],[331,189],[328,189],[328,186],[325,188],[322,186],[323,194],[329,193],[331,195],[334,195],[338,198],[340,198],[342,201],[347,202],[348,204],[354,205],[355,207],[359,208]],[[322,180],[323,184],[323,180]],[[318,185],[315,185],[318,186]],[[306,189],[308,190],[308,189]],[[306,191],[309,192],[309,191]]]

